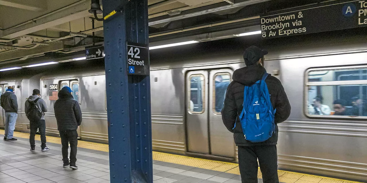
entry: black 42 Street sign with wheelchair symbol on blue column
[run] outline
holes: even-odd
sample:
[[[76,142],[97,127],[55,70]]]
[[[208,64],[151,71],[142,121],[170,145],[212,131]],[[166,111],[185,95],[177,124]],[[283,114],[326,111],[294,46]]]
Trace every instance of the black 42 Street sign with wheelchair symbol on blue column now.
[[[127,74],[149,75],[149,48],[147,45],[127,43]]]

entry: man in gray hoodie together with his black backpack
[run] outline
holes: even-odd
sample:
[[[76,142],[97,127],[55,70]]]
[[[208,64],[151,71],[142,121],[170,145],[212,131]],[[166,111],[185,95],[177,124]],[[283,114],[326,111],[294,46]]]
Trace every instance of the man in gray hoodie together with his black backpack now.
[[[29,119],[29,143],[30,151],[35,151],[36,144],[34,142],[34,136],[36,136],[37,129],[41,135],[41,150],[46,151],[50,148],[46,147],[46,122],[45,112],[47,112],[46,102],[41,98],[39,89],[34,89],[32,96],[28,97],[25,101],[24,112]]]

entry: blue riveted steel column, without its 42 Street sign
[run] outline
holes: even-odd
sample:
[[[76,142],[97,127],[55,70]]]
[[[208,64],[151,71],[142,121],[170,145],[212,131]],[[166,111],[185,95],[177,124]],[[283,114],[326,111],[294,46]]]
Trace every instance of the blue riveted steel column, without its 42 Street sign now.
[[[121,0],[103,0],[103,16]],[[148,1],[103,22],[111,183],[153,182],[149,76],[127,75],[126,42],[149,44]]]

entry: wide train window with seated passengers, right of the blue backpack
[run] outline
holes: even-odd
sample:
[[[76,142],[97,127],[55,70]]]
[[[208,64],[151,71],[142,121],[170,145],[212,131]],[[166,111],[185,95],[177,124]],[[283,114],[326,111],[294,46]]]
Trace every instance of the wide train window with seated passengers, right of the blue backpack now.
[[[367,116],[367,67],[323,68],[308,72],[306,115]]]

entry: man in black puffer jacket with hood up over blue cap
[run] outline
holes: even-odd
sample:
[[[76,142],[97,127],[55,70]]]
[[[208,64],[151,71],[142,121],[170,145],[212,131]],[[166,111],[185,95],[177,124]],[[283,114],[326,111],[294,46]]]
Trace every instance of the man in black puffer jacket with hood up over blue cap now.
[[[74,100],[73,91],[70,87],[63,87],[58,94],[59,99],[54,104],[55,117],[57,120],[57,130],[59,130],[62,145],[63,167],[78,169],[76,166],[76,151],[78,145],[78,132],[81,124],[81,111],[79,102]],[[68,158],[68,148],[70,143],[70,164]]]

